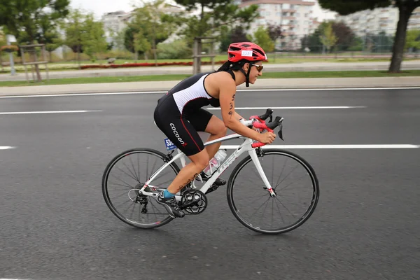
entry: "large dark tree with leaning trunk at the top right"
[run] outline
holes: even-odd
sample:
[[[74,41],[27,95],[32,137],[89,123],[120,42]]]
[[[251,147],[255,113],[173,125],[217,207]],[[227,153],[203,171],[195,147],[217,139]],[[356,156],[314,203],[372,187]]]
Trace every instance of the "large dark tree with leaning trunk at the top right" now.
[[[419,0],[318,0],[321,8],[333,10],[340,15],[349,15],[359,10],[367,10],[388,6],[395,6],[399,10],[399,20],[389,71],[399,72],[401,69],[402,56],[404,54],[407,25],[409,17],[415,8],[420,6]]]

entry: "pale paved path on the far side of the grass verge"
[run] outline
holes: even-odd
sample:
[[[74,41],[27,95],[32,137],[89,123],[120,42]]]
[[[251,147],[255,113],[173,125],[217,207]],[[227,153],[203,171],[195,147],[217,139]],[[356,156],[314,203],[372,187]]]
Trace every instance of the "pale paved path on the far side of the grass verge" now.
[[[303,62],[290,64],[264,64],[264,71],[349,71],[349,70],[388,70],[390,62]],[[221,65],[216,64],[215,69]],[[420,69],[420,59],[402,62],[402,70]],[[211,71],[211,65],[202,65],[202,72]],[[167,74],[192,74],[193,66],[159,66],[159,67],[130,67],[117,69],[86,69],[69,71],[49,71],[50,78],[80,78],[99,76],[145,76]],[[29,72],[29,79],[32,74]],[[46,79],[45,71],[41,76]],[[10,73],[0,74],[0,81],[26,80],[25,72],[19,72],[15,76]]]

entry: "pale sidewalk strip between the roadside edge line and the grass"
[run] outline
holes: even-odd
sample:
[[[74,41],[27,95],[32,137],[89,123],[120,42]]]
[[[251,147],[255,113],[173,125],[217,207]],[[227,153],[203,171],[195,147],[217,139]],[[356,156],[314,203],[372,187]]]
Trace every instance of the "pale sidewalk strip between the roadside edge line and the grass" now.
[[[75,94],[106,92],[165,92],[179,81],[97,83],[78,85],[30,85],[26,87],[0,87],[0,96],[20,96],[31,94]],[[307,89],[307,88],[355,88],[355,87],[420,87],[419,77],[384,78],[285,78],[260,79],[255,85],[239,90],[264,89]],[[420,93],[420,90],[419,90]]]

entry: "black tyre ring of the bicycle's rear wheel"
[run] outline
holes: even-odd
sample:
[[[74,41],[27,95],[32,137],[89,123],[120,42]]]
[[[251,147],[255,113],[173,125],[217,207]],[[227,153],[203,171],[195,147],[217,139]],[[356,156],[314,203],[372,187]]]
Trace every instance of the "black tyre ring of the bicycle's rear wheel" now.
[[[174,218],[172,218],[171,216],[167,216],[167,218],[165,218],[165,220],[160,221],[160,223],[154,223],[154,224],[148,224],[148,225],[141,225],[139,223],[133,223],[132,221],[130,221],[129,219],[125,218],[125,216],[123,216],[122,214],[120,214],[119,211],[117,211],[117,209],[113,206],[110,198],[109,198],[109,193],[108,193],[108,184],[107,184],[107,180],[109,177],[109,173],[111,172],[111,169],[114,165],[116,165],[116,163],[121,160],[122,158],[124,158],[126,155],[130,155],[132,153],[148,153],[151,155],[156,155],[158,158],[160,158],[162,160],[162,165],[165,163],[163,160],[166,157],[166,155],[160,151],[151,149],[151,148],[132,148],[130,150],[127,151],[123,151],[122,153],[116,155],[110,162],[109,164],[106,166],[105,170],[104,170],[104,174],[102,176],[102,195],[104,196],[104,200],[106,202],[106,205],[109,207],[109,209],[111,210],[111,212],[117,216],[117,218],[119,218],[121,221],[123,221],[124,223],[127,223],[128,225],[132,225],[136,228],[158,228],[161,227],[162,225],[166,225],[167,223],[169,223],[170,221],[172,221]],[[179,173],[180,169],[178,167],[178,165],[176,165],[175,162],[172,162],[171,165],[169,165],[170,167],[172,167],[172,169],[175,172],[175,176],[176,174]]]

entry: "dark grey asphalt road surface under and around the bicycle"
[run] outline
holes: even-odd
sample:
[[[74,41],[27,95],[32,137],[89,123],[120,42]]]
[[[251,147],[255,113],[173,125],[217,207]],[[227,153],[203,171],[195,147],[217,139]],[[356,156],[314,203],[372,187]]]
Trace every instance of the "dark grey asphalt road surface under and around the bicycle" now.
[[[419,148],[293,150],[321,197],[285,235],[244,228],[224,187],[203,214],[155,230],[118,220],[102,173],[126,149],[165,152],[159,96],[0,100],[0,146],[15,147],[0,150],[0,279],[419,279]],[[237,106],[351,106],[275,110],[285,118],[276,145],[420,144],[419,90],[238,92]],[[6,114],[78,110],[89,112]]]

